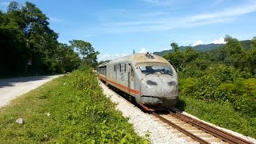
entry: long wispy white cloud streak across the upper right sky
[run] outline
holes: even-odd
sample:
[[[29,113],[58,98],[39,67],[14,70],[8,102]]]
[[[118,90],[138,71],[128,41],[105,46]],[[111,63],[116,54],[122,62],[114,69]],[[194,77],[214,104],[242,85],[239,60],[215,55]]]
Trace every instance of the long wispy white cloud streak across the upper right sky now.
[[[165,2],[160,0],[143,0],[158,4]],[[167,2],[167,1],[166,1]],[[219,2],[222,2],[221,0]],[[102,22],[104,23],[101,30],[102,33],[129,33],[129,32],[149,32],[172,30],[176,28],[184,28],[190,26],[202,26],[214,23],[232,22],[236,18],[244,14],[250,14],[256,11],[256,2],[249,2],[245,5],[227,7],[222,10],[216,10],[212,13],[201,13],[188,15],[186,17],[174,17],[169,12],[162,10],[156,13],[155,11],[147,14],[123,14],[124,20],[117,22]],[[126,16],[129,15],[129,16]],[[153,15],[153,16],[150,16]],[[126,19],[126,20],[125,20]]]

